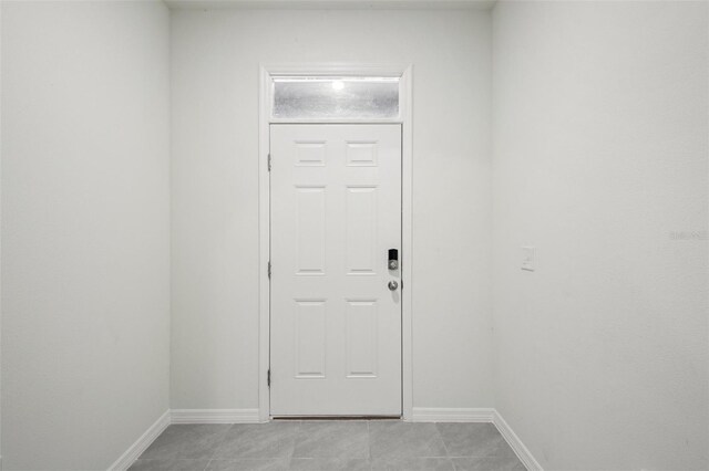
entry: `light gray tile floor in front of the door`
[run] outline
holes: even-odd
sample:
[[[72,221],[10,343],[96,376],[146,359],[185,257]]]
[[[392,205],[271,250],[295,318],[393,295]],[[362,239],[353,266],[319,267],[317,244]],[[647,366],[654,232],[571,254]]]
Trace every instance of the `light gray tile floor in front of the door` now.
[[[131,471],[524,471],[492,423],[400,420],[169,426]]]

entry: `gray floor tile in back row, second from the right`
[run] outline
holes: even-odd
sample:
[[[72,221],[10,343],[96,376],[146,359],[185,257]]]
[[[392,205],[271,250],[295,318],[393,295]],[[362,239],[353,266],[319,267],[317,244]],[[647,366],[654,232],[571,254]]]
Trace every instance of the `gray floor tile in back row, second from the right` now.
[[[372,458],[446,457],[445,447],[435,423],[371,421],[369,447]]]

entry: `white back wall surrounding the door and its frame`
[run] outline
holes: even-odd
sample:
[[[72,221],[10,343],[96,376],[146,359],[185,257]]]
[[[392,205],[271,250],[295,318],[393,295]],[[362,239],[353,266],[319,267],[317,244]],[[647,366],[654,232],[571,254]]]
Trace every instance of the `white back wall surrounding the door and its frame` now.
[[[173,408],[258,407],[258,67],[414,64],[415,407],[491,407],[490,13],[173,12]]]

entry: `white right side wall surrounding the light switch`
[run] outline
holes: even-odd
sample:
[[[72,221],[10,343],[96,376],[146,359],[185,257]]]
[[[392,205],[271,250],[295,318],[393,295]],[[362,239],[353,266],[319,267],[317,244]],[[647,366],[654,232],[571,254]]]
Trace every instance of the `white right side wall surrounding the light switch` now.
[[[709,465],[707,8],[495,7],[495,400],[545,469]]]

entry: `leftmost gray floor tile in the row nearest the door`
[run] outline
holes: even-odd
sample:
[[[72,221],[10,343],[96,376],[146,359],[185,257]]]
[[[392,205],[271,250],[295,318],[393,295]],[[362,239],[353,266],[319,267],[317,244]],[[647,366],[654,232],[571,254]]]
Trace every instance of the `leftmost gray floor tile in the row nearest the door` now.
[[[141,459],[209,459],[230,427],[228,425],[169,426],[145,450]]]

